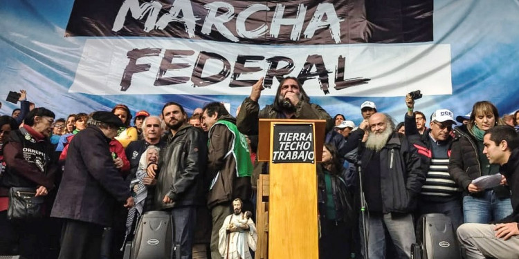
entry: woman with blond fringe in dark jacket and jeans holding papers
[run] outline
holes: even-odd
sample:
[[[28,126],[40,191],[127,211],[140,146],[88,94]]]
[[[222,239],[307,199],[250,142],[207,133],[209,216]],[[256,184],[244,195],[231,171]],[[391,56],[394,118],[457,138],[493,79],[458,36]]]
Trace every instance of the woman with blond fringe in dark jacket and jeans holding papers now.
[[[498,108],[491,102],[482,101],[474,104],[468,124],[454,128],[448,171],[464,189],[464,222],[487,224],[506,217],[512,211],[507,186],[482,189],[472,182],[482,175],[499,173],[499,167],[491,165],[483,154],[483,135],[502,124]]]

